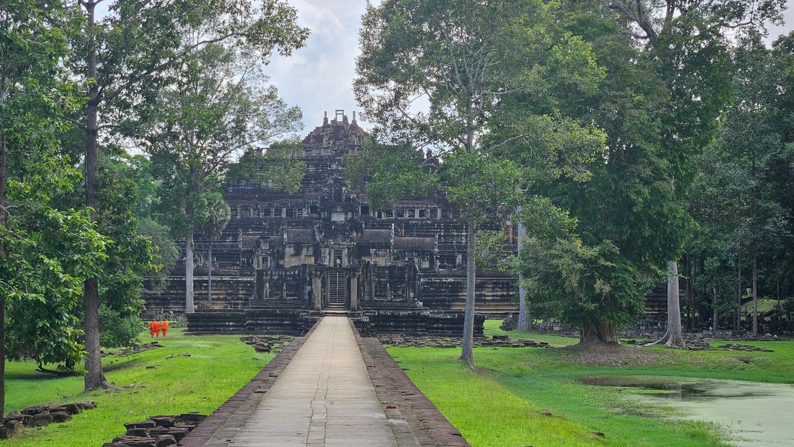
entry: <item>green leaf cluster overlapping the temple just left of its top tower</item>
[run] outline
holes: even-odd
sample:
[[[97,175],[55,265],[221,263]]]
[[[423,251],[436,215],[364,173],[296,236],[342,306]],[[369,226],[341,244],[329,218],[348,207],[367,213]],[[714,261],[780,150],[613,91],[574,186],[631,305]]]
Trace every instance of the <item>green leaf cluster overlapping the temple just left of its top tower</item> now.
[[[248,180],[295,194],[306,175],[306,163],[300,160],[301,156],[303,143],[298,138],[276,141],[268,148],[246,151],[237,163],[229,165],[225,178]]]

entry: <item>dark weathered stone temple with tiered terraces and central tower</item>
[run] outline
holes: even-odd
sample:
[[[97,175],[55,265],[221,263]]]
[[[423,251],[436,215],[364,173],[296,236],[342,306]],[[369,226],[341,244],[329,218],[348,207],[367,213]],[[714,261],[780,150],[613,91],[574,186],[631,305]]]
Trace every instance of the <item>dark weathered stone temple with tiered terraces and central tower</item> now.
[[[306,175],[297,194],[267,179],[225,191],[232,218],[222,236],[195,240],[196,312],[191,332],[299,333],[321,314],[354,317],[376,332],[460,335],[465,300],[466,231],[460,213],[436,191],[373,210],[350,191],[343,158],[367,134],[344,110],[303,140]],[[499,216],[484,229],[515,229]],[[212,263],[212,304],[207,267]],[[184,263],[168,287],[146,297],[150,313],[184,311]],[[485,315],[515,313],[515,277],[477,272],[479,330]]]

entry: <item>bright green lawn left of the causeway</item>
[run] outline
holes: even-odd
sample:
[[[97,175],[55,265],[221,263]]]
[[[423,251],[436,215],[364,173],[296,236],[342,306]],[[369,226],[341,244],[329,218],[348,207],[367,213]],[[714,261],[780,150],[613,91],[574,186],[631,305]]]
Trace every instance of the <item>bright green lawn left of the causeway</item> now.
[[[275,354],[256,353],[235,335],[186,336],[173,328],[163,348],[102,359],[118,391],[83,394],[83,377],[36,372],[33,362],[6,363],[6,411],[41,403],[94,400],[98,407],[68,422],[21,430],[3,444],[52,447],[102,445],[124,434],[125,422],[157,414],[210,414],[247,383]],[[149,341],[148,333],[141,341]],[[190,356],[179,356],[189,353]],[[167,359],[169,355],[173,358]],[[147,367],[154,368],[147,368]],[[129,386],[129,387],[127,387]]]

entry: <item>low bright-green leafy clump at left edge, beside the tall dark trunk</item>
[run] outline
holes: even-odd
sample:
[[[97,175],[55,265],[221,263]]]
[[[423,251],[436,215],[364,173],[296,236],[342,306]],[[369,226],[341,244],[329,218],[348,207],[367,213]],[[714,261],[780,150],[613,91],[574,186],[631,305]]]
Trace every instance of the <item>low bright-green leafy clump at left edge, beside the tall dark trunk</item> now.
[[[107,259],[108,240],[85,211],[19,209],[7,225],[0,230],[6,249],[0,259],[6,354],[10,360],[32,359],[40,367],[56,364],[75,372],[83,358],[75,308],[83,297],[83,280],[96,275]]]

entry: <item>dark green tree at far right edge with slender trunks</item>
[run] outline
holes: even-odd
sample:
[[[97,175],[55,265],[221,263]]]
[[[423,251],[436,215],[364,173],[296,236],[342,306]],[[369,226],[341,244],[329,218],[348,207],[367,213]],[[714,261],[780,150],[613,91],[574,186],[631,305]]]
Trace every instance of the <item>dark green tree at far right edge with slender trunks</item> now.
[[[794,152],[783,142],[775,111],[785,82],[773,62],[773,52],[754,30],[738,37],[734,64],[732,105],[721,119],[717,138],[703,153],[703,171],[696,179],[696,186],[709,192],[710,202],[703,202],[698,194],[690,199],[692,213],[703,229],[703,237],[693,248],[713,259],[710,266],[723,267],[723,271],[730,264],[738,271],[739,258],[746,254],[754,307],[752,330],[757,335],[757,299],[764,285],[759,284],[759,271],[772,272],[773,264],[782,264],[791,237],[790,215],[775,186],[780,184],[777,167],[790,164]],[[737,299],[737,310],[739,306]]]

